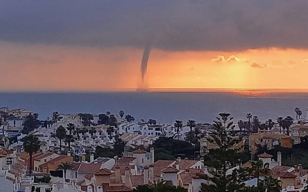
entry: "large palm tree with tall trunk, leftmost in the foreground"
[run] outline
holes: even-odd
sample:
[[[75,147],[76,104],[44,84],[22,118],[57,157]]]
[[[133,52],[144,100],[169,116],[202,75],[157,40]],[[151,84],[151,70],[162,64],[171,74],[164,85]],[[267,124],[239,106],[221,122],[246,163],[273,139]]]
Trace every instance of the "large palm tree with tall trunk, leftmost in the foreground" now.
[[[22,144],[24,150],[29,153],[29,160],[32,162],[32,155],[39,151],[40,143],[39,139],[33,135],[27,135]],[[30,175],[32,172],[32,163],[29,164]]]

